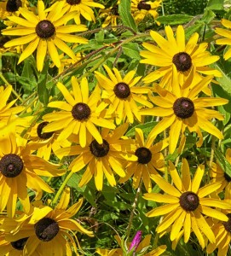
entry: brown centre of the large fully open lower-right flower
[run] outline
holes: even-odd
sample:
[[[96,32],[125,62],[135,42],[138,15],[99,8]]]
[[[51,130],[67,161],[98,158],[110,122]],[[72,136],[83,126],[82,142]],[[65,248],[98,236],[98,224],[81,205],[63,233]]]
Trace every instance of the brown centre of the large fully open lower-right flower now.
[[[184,192],[180,197],[180,206],[187,212],[192,212],[199,207],[199,197],[195,193]]]

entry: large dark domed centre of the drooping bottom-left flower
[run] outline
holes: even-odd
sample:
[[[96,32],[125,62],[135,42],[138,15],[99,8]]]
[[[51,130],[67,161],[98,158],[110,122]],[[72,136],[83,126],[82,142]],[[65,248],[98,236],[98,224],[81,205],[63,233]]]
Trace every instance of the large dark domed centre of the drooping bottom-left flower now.
[[[41,218],[34,225],[35,235],[42,241],[51,241],[60,230],[59,225],[52,218]]]

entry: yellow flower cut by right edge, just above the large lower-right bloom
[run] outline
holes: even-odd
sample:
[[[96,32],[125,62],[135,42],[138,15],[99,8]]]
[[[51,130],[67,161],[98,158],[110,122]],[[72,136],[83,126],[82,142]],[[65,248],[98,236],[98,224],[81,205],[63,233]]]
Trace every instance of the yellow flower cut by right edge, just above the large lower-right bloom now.
[[[231,148],[226,150],[226,159],[231,164]],[[222,170],[222,167],[219,164],[211,164],[211,173],[212,180],[211,182],[221,182],[221,188],[217,189],[217,193],[220,193],[223,189],[225,191],[231,190],[231,177],[228,176],[226,172]]]

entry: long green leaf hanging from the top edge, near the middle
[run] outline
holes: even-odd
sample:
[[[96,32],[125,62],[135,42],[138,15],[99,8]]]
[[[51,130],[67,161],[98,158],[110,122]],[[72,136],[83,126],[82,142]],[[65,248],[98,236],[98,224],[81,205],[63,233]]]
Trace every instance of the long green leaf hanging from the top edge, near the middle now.
[[[124,24],[137,32],[136,22],[130,14],[130,0],[121,0],[118,4],[118,14]]]

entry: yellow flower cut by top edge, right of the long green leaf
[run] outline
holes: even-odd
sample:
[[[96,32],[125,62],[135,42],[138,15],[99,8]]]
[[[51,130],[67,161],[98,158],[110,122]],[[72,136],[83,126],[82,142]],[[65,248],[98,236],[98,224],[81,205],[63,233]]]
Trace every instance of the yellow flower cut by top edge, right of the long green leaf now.
[[[161,6],[162,0],[156,1],[143,1],[131,0],[130,9],[131,14],[137,23],[143,20],[147,15],[152,15],[153,19],[158,17],[157,9]]]

